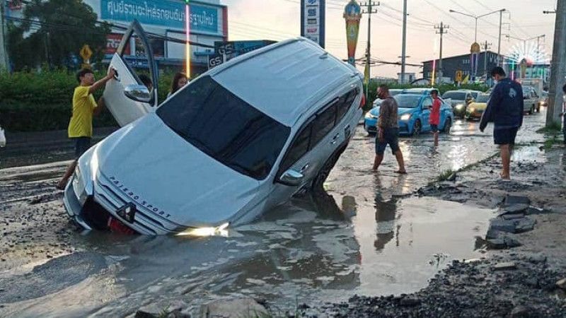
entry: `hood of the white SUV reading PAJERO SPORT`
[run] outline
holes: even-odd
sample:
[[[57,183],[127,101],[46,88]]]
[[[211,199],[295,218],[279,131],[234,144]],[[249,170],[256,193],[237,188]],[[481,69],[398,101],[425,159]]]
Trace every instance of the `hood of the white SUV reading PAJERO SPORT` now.
[[[179,225],[229,222],[258,193],[258,180],[192,146],[155,113],[116,131],[97,152],[105,177],[118,180]]]

